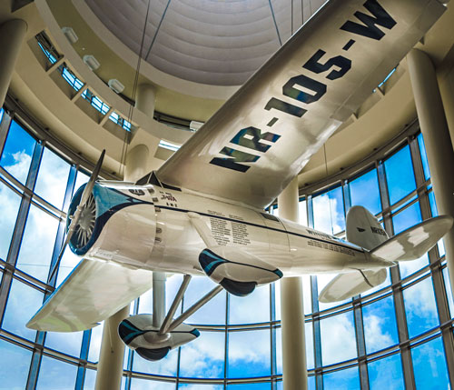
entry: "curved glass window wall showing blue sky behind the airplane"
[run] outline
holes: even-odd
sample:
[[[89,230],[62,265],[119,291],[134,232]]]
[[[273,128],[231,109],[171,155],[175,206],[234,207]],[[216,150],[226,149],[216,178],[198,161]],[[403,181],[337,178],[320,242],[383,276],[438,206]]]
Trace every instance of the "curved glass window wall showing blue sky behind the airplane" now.
[[[103,325],[74,334],[25,328],[79,261],[67,251],[49,280],[65,210],[87,175],[18,119],[1,117],[0,388],[92,389]],[[410,135],[385,159],[305,194],[301,223],[341,236],[350,206],[365,205],[392,235],[436,215],[423,139],[417,129]],[[391,268],[371,292],[322,304],[317,296],[332,276],[303,276],[311,389],[450,388],[453,303],[441,243]],[[168,305],[181,280],[168,279]],[[211,288],[208,278],[194,277],[179,310]],[[279,283],[246,298],[222,292],[187,321],[201,331],[194,342],[155,363],[127,349],[122,389],[281,389],[280,310]],[[151,292],[131,305],[132,314],[151,311]]]

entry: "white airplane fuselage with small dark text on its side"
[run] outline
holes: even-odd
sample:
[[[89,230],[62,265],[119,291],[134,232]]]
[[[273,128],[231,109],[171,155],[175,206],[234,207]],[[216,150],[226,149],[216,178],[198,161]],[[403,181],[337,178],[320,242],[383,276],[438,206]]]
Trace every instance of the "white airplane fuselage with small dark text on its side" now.
[[[130,204],[105,205],[111,207],[110,212],[104,210],[109,218],[93,245],[79,255],[134,268],[204,275],[199,255],[207,246],[192,225],[192,212],[201,215],[217,245],[254,255],[284,276],[385,266],[358,245],[252,207],[156,185],[115,187],[96,185],[97,203],[108,203],[102,198],[114,194]]]

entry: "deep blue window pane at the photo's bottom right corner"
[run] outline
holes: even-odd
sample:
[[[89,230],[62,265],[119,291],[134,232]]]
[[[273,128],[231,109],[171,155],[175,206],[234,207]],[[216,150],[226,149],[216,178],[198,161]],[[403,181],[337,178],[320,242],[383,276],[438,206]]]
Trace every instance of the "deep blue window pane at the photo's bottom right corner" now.
[[[445,352],[440,338],[411,349],[418,389],[449,389]]]

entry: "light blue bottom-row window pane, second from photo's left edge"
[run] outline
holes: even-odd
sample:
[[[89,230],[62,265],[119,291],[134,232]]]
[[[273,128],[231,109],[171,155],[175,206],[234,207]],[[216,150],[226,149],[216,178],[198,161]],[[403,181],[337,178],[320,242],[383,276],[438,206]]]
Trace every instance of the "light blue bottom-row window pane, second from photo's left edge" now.
[[[43,356],[38,375],[36,389],[74,390],[77,366],[69,365],[60,360]],[[58,384],[58,386],[55,386]]]

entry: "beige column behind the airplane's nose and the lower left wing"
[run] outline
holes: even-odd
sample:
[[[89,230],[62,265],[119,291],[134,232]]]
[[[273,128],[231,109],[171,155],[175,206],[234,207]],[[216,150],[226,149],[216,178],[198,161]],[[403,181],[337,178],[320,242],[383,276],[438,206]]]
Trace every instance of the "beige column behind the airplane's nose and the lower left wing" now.
[[[124,169],[125,181],[136,181],[147,172],[149,153],[145,145],[136,145],[126,155]],[[96,375],[95,390],[120,389],[123,375],[124,348],[122,339],[118,335],[118,325],[129,315],[130,305],[123,307],[119,312],[104,321],[103,339],[99,355],[98,372]]]

